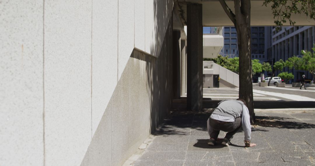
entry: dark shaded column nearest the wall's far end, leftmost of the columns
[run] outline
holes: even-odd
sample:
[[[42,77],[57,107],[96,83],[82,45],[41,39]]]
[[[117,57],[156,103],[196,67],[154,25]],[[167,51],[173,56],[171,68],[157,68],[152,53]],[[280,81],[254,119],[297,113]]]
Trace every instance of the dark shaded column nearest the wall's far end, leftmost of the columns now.
[[[180,31],[173,31],[173,92],[174,98],[180,98]]]

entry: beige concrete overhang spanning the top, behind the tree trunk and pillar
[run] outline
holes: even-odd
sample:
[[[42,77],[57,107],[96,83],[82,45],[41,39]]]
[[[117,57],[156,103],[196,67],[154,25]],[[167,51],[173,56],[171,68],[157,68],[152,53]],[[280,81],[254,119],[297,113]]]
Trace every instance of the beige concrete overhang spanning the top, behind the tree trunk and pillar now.
[[[275,25],[271,4],[266,7],[263,2],[263,0],[251,0],[251,26]],[[183,25],[186,25],[187,20],[187,3],[202,3],[203,26],[234,26],[218,0],[177,0],[175,10],[179,13]],[[226,0],[226,4],[234,11],[233,1]],[[315,21],[305,14],[292,14],[291,19],[296,22],[295,25],[315,25]],[[289,21],[284,25],[290,25]]]

